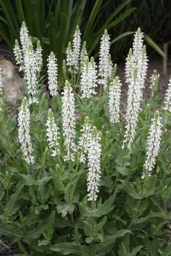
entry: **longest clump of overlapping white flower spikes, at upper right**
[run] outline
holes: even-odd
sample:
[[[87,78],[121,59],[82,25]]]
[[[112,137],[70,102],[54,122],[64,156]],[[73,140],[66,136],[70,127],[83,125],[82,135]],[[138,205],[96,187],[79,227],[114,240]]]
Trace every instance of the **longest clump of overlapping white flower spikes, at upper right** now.
[[[125,78],[128,83],[128,107],[126,112],[126,131],[122,147],[130,149],[135,138],[138,112],[142,100],[147,70],[146,46],[143,46],[143,33],[140,28],[135,33],[133,51],[130,49],[125,65]]]

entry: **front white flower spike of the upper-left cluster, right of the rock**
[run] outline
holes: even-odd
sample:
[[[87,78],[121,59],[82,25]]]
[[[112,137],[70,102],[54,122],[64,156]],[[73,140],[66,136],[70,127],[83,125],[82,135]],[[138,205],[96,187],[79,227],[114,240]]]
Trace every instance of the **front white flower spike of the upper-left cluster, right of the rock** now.
[[[33,50],[33,44],[28,45],[24,55],[24,74],[28,86],[29,104],[38,103],[38,79],[37,79],[36,55]]]

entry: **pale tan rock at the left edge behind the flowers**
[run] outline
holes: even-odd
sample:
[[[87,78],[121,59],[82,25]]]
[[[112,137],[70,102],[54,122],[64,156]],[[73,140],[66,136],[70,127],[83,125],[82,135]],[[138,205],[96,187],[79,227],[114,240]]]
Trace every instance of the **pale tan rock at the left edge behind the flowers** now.
[[[2,70],[2,84],[4,86],[6,100],[10,104],[15,105],[17,99],[23,99],[24,97],[22,79],[9,60],[1,59],[0,67]]]

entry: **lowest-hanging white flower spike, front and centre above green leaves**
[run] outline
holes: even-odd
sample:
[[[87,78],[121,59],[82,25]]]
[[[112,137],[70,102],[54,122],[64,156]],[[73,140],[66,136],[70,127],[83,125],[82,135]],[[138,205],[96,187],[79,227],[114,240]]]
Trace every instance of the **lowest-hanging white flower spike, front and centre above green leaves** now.
[[[101,135],[96,127],[93,128],[91,139],[88,141],[88,201],[96,201],[99,193],[101,178]]]

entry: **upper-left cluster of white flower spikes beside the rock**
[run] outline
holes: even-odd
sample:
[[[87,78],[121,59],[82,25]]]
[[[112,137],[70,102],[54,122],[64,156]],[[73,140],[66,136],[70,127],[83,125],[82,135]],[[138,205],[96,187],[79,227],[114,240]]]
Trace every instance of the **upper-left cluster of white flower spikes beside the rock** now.
[[[14,45],[14,56],[17,65],[20,65],[20,71],[24,72],[24,78],[27,83],[29,103],[38,102],[38,75],[41,72],[43,60],[41,54],[41,44],[38,41],[36,51],[33,49],[32,39],[29,36],[28,28],[25,22],[22,22],[20,29],[21,48],[17,40]]]

